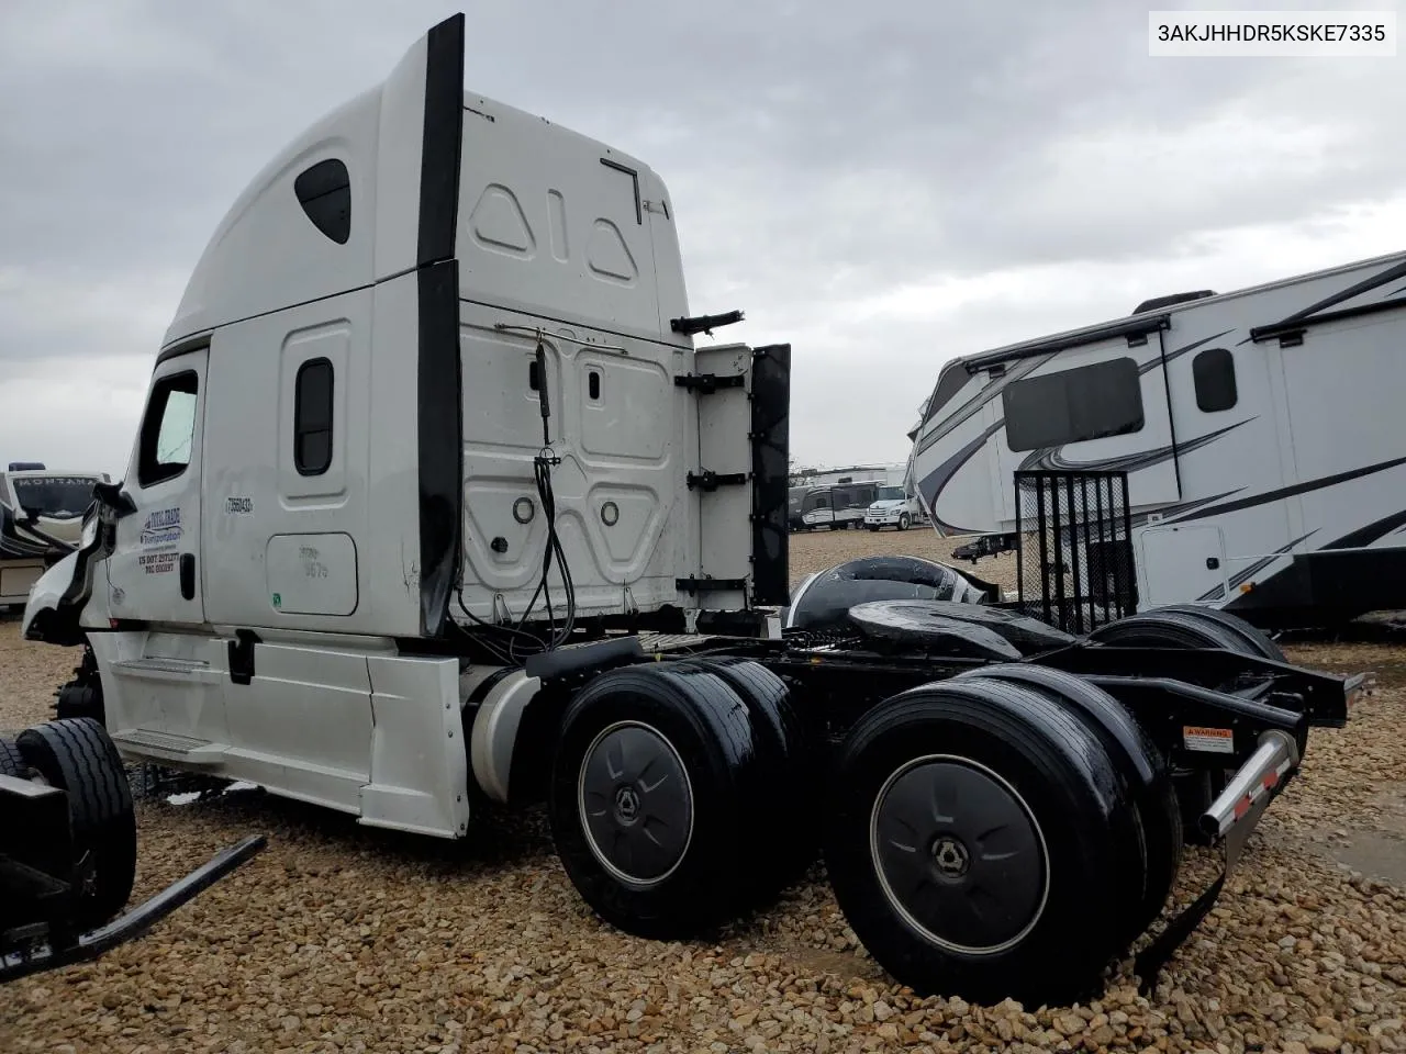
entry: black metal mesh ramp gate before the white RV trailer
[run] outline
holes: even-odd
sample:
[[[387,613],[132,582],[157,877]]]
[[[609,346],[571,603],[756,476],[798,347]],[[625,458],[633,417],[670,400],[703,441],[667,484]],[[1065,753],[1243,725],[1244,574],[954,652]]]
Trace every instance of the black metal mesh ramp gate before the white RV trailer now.
[[[1085,634],[1137,609],[1126,472],[1015,474],[1018,607]]]

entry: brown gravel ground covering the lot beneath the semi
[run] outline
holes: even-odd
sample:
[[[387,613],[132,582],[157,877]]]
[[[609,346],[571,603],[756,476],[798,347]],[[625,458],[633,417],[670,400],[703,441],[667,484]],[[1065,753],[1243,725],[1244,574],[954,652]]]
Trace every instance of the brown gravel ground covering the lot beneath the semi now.
[[[950,545],[799,535],[792,571]],[[247,833],[270,845],[145,939],[0,989],[0,1051],[1406,1051],[1406,649],[1291,651],[1379,689],[1315,734],[1152,998],[1123,964],[1085,1006],[915,999],[856,947],[818,867],[718,944],[636,940],[583,906],[537,812],[444,845],[250,791],[142,804],[134,898]],[[0,727],[44,720],[72,663],[0,624]],[[1188,857],[1178,905],[1211,863]]]

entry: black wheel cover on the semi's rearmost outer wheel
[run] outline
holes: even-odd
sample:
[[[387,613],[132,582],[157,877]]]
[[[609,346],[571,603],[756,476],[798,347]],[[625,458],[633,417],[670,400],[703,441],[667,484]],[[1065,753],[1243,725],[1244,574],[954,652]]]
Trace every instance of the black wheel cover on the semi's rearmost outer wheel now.
[[[898,767],[875,798],[869,850],[890,906],[948,951],[1004,951],[1045,912],[1040,826],[1007,780],[967,757]]]

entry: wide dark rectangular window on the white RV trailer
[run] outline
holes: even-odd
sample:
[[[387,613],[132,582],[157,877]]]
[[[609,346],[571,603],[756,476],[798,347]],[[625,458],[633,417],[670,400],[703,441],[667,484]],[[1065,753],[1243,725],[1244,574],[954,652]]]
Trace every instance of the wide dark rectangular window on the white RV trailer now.
[[[1017,381],[1001,393],[1012,451],[1142,431],[1137,363],[1114,358]]]

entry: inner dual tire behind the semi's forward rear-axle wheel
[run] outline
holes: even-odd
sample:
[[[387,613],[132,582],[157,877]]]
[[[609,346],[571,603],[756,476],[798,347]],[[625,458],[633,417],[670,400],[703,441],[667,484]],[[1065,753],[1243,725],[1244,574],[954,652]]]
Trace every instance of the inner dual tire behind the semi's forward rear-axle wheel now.
[[[761,824],[755,884],[756,904],[800,878],[820,854],[817,738],[792,704],[790,687],[754,659],[709,655],[679,662],[721,677],[747,705],[752,735],[763,752],[758,801]]]

